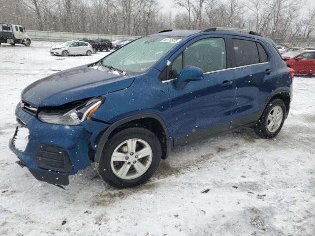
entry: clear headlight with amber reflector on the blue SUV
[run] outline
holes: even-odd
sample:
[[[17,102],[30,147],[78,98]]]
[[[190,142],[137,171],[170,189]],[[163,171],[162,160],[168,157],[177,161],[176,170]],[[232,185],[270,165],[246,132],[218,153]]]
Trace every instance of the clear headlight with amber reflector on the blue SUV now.
[[[104,99],[95,98],[84,103],[70,104],[67,108],[44,108],[39,112],[38,119],[52,124],[78,125],[84,120],[91,119],[90,116],[103,102]]]

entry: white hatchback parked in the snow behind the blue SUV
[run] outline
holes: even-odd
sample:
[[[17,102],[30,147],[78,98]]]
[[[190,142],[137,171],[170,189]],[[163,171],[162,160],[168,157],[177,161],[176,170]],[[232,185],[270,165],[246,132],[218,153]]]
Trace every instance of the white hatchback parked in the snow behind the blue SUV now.
[[[51,55],[61,55],[63,57],[67,57],[68,55],[91,56],[93,52],[93,47],[88,42],[69,41],[64,42],[61,45],[52,47],[49,52]]]

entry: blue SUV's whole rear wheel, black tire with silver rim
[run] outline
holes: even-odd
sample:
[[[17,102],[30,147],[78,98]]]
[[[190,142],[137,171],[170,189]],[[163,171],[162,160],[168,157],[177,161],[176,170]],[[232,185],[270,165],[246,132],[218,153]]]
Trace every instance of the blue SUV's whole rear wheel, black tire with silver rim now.
[[[284,125],[285,113],[283,100],[277,98],[271,101],[254,127],[255,133],[264,139],[275,137]]]

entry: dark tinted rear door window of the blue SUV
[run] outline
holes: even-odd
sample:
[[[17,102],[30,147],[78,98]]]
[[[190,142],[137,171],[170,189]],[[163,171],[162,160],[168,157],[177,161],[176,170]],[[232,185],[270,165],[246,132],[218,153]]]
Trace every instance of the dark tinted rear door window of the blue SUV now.
[[[233,39],[236,66],[252,65],[259,63],[259,54],[256,42]]]

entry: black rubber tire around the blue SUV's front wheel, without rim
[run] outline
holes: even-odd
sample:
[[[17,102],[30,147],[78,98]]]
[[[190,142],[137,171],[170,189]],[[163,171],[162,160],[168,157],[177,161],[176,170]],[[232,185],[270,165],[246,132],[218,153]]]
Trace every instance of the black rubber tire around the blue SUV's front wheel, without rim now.
[[[114,150],[128,139],[141,139],[149,144],[152,149],[152,161],[148,170],[134,179],[123,179],[117,177],[111,168],[111,157]],[[116,188],[132,187],[147,181],[158,169],[161,160],[161,146],[157,136],[150,130],[140,127],[127,128],[115,134],[104,145],[99,162],[95,162],[96,170],[100,177],[111,186]]]

